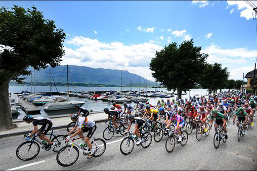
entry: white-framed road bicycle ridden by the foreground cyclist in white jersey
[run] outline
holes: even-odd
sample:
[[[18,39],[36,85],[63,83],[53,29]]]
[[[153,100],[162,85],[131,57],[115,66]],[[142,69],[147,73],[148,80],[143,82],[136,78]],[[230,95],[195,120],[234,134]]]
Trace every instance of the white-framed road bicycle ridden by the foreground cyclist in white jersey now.
[[[58,164],[64,167],[71,166],[77,161],[79,151],[83,152],[83,155],[88,155],[90,153],[88,146],[81,147],[79,144],[74,142],[82,138],[84,137],[72,138],[71,143],[67,142],[66,146],[59,150],[56,156]],[[103,139],[94,137],[91,144],[94,150],[93,157],[99,157],[105,152],[106,143]]]

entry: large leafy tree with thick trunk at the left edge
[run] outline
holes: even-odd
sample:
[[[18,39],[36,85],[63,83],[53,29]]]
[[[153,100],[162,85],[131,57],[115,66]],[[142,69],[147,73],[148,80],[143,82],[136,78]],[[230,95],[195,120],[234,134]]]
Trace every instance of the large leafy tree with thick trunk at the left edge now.
[[[27,11],[18,6],[0,8],[0,130],[12,129],[9,82],[22,83],[34,70],[56,67],[64,55],[65,33],[54,21],[44,19],[35,7]]]

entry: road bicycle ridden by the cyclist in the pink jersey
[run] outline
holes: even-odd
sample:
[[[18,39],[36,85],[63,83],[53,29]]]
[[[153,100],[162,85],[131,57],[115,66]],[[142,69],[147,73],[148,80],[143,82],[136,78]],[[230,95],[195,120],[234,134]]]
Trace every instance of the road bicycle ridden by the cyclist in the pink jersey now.
[[[188,134],[187,132],[184,130],[181,132],[181,136],[182,136],[182,141],[178,141],[179,140],[179,135],[177,130],[174,129],[167,129],[168,131],[168,138],[166,140],[165,143],[165,149],[168,153],[171,153],[176,145],[176,140],[177,140],[177,144],[181,144],[182,146],[185,146],[187,144],[187,140],[188,140]]]

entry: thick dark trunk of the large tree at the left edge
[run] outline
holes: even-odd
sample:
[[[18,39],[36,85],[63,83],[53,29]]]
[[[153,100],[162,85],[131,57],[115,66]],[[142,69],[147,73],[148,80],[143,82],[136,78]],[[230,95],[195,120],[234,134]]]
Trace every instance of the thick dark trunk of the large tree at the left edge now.
[[[13,123],[11,106],[9,101],[9,82],[0,84],[0,131],[17,127]]]

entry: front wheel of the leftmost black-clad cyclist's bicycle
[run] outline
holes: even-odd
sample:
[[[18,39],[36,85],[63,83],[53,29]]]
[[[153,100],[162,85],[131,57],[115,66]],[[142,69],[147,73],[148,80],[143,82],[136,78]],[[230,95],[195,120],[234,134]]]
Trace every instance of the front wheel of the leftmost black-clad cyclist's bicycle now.
[[[40,151],[40,147],[36,142],[26,141],[21,143],[16,150],[16,156],[23,161],[32,160]]]

